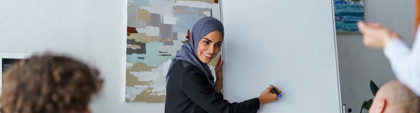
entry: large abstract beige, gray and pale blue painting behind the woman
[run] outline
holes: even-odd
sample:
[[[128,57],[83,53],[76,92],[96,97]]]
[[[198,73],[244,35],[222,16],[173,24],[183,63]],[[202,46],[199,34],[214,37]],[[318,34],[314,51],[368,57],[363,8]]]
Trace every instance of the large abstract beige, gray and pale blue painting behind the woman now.
[[[198,19],[220,20],[219,1],[128,0],[127,13],[125,101],[165,102],[165,77],[172,58],[189,43]],[[212,71],[214,65],[215,61],[209,63]]]

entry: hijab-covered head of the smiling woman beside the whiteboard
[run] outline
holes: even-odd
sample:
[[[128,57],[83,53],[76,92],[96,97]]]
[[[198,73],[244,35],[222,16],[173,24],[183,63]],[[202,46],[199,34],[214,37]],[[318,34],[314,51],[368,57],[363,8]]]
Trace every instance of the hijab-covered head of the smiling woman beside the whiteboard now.
[[[209,63],[220,52],[224,37],[222,23],[213,17],[204,17],[196,22],[190,37],[195,54],[203,63]]]

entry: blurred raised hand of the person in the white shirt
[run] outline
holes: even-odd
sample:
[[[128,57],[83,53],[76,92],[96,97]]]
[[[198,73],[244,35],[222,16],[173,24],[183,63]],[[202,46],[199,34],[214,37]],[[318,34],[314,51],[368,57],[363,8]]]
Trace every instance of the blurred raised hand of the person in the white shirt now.
[[[366,24],[364,22],[359,22],[357,23],[357,26],[363,34],[363,43],[367,47],[384,49],[390,40],[401,38],[397,33],[382,27],[379,23]]]

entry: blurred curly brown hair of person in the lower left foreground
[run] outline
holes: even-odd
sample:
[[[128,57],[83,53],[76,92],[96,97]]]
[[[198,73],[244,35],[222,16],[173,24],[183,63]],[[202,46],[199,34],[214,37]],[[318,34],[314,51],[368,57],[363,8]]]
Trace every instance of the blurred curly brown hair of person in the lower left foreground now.
[[[32,56],[3,74],[1,113],[82,112],[102,83],[96,69],[72,58]]]

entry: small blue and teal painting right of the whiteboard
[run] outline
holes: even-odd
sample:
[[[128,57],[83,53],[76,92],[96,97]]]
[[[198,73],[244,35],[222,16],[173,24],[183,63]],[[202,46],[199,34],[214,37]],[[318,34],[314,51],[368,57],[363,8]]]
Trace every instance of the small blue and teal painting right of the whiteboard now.
[[[364,21],[363,0],[334,0],[337,32],[359,32],[357,22]]]

